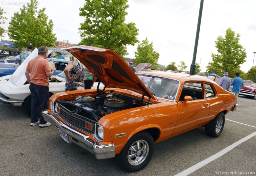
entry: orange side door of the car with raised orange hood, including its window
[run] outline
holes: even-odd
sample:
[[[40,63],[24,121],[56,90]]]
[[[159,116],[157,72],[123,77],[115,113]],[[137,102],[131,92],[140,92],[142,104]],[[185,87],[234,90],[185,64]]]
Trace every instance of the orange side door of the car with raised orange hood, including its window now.
[[[189,93],[190,91],[193,93]],[[184,102],[182,96],[185,95],[195,97],[192,97],[192,101]],[[203,124],[208,117],[209,109],[209,103],[207,99],[204,98],[203,83],[185,83],[178,101],[178,116],[173,135],[183,133]]]

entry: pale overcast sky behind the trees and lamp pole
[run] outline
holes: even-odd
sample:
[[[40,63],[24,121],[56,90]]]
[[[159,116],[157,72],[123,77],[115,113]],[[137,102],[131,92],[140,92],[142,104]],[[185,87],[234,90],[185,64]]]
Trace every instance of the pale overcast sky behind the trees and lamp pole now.
[[[22,5],[14,3],[28,3],[29,0],[0,0],[1,7],[8,18],[8,23],[14,12]],[[79,8],[83,7],[83,0],[72,1],[38,1],[38,10],[46,8],[48,19],[53,21],[53,33],[57,40],[69,40],[78,43],[80,36],[78,28],[84,18],[79,17]],[[129,8],[126,23],[134,22],[139,29],[137,38],[153,42],[154,50],[160,54],[158,63],[167,66],[171,62],[179,64],[184,61],[190,70],[193,59],[196,28],[200,0],[128,0]],[[201,28],[199,34],[196,63],[202,71],[212,61],[211,54],[217,54],[215,42],[220,35],[225,37],[230,27],[241,35],[239,43],[246,49],[246,62],[241,70],[247,72],[253,63],[256,52],[256,1],[255,0],[204,0]],[[3,38],[8,40],[7,34]],[[135,46],[127,46],[129,55],[134,58]],[[256,59],[254,66],[256,65]]]

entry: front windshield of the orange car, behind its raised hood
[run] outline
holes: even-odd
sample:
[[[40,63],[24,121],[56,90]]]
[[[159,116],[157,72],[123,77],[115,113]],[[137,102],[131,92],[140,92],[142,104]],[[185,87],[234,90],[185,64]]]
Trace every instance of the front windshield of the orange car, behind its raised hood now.
[[[180,82],[170,78],[136,74],[148,90],[156,97],[175,100]]]

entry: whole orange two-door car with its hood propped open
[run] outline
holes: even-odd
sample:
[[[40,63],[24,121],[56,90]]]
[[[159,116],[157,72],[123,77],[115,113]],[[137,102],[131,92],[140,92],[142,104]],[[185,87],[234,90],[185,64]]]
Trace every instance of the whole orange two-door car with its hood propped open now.
[[[225,114],[236,109],[234,94],[210,79],[180,73],[134,73],[113,50],[65,48],[105,85],[104,89],[61,92],[42,114],[67,143],[97,159],[120,157],[127,172],[143,169],[154,143],[205,126],[218,137]]]

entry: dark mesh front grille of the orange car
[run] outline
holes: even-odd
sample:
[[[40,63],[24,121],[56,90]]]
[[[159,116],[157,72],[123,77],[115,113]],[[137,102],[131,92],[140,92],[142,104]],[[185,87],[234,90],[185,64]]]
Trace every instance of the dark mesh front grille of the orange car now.
[[[76,113],[73,113],[71,111],[69,111],[67,108],[65,108],[62,105],[58,105],[58,107],[60,108],[60,117],[66,122],[68,123],[68,125],[78,128],[80,130],[83,130],[87,133],[90,134],[94,134],[95,133],[95,124],[96,121],[92,121],[91,119],[89,119],[88,117],[90,116],[90,114],[87,114],[88,117],[84,117],[81,115],[78,115]],[[89,123],[92,125],[92,130],[89,130],[87,128],[85,128],[85,123]]]

